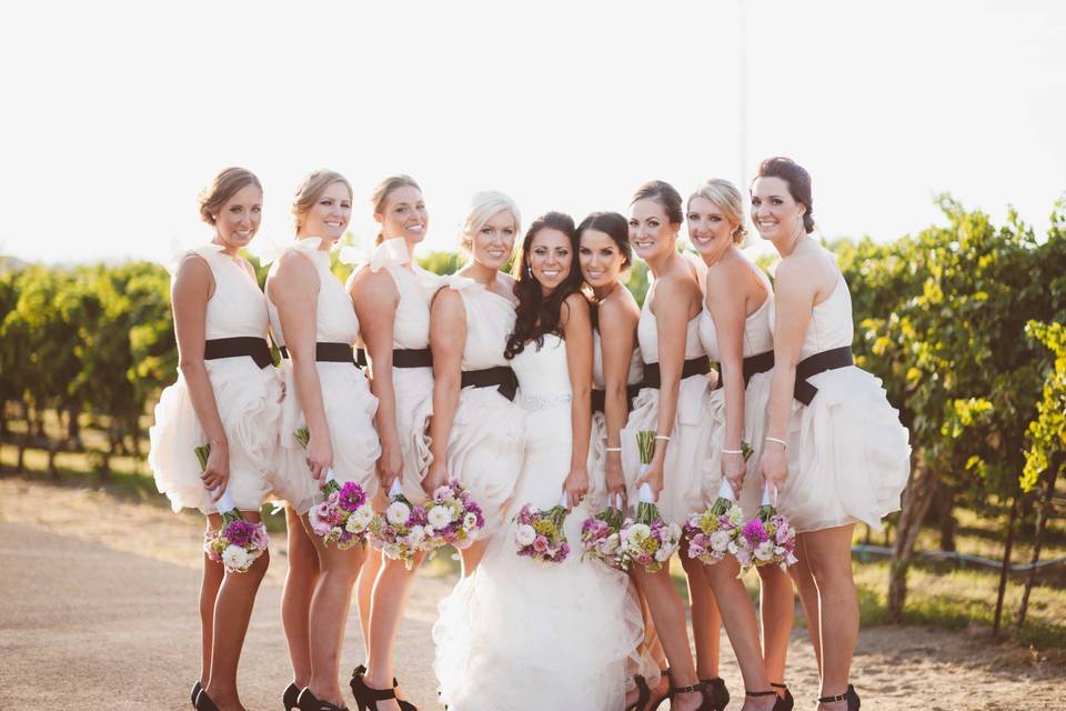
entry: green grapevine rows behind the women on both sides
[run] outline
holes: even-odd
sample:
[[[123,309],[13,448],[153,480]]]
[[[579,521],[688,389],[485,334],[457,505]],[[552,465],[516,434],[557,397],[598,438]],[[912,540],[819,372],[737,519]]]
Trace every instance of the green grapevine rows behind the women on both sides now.
[[[856,362],[883,380],[912,434],[912,480],[892,519],[888,608],[897,620],[931,511],[947,549],[955,507],[1005,517],[1005,562],[1019,519],[1030,517],[1035,559],[1066,460],[1066,200],[1043,236],[1015,212],[997,226],[948,197],[938,203],[946,224],[891,242],[828,244],[852,291]],[[435,252],[422,264],[451,273],[461,261]],[[252,262],[262,283],[265,269]],[[334,263],[341,278],[349,269]],[[643,299],[642,266],[628,286]],[[19,469],[28,447],[46,448],[51,469],[57,451],[80,449],[84,415],[107,433],[103,471],[111,455],[144,454],[142,417],[177,372],[169,290],[165,269],[150,262],[0,262],[0,435],[18,445]],[[46,435],[47,411],[64,438]],[[11,419],[26,422],[19,437]],[[1027,583],[1019,621],[1032,575]]]

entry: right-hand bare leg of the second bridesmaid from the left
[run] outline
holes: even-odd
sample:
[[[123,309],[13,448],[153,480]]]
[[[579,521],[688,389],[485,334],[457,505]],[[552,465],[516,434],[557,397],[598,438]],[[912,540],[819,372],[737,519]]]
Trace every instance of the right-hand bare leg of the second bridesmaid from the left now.
[[[341,644],[352,604],[352,588],[363,562],[363,549],[354,545],[342,551],[336,545],[326,545],[313,534],[306,517],[301,520],[318,552],[321,571],[308,619],[311,633],[311,682],[308,687],[315,698],[344,705],[344,695],[338,683]]]

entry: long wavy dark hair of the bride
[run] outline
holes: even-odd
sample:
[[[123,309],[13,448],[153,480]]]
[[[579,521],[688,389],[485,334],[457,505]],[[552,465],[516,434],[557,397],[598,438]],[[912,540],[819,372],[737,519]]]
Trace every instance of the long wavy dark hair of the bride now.
[[[570,273],[552,293],[544,297],[541,292],[541,282],[533,277],[530,269],[530,246],[537,232],[544,229],[559,230],[570,239],[570,249],[573,260],[570,263]],[[511,273],[515,278],[514,296],[519,300],[515,307],[514,330],[507,337],[507,347],[503,351],[506,359],[512,359],[523,350],[529,341],[535,341],[540,350],[544,346],[544,336],[554,333],[562,337],[563,302],[566,297],[581,291],[581,266],[577,263],[577,230],[574,220],[563,212],[546,212],[533,220],[530,230],[522,240],[522,250],[515,260]]]

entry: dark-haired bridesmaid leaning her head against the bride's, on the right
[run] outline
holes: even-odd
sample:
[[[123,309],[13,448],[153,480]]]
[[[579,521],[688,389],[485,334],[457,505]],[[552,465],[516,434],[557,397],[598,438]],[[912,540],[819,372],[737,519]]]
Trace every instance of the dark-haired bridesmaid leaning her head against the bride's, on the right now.
[[[592,437],[589,444],[589,510],[602,511],[617,497],[625,510],[621,430],[630,414],[644,375],[636,324],[641,308],[622,283],[633,264],[628,222],[617,212],[593,212],[577,226],[577,260],[591,289],[592,306]],[[644,641],[631,660],[633,688],[626,709],[644,709],[653,694],[664,698],[670,689],[661,669],[666,665],[655,628],[641,600]]]

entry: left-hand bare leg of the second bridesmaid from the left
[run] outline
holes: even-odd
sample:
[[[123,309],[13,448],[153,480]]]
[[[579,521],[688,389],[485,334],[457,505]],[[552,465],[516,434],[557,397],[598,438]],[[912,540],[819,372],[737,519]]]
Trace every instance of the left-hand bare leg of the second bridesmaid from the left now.
[[[285,630],[292,680],[300,689],[311,683],[311,598],[319,581],[319,554],[300,517],[285,508],[289,529],[289,570],[281,593],[281,624]]]

